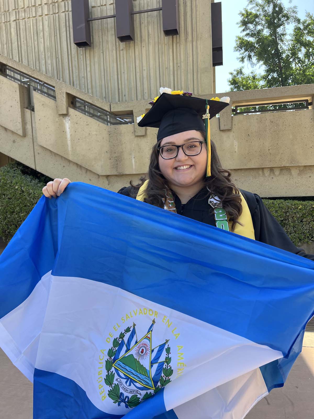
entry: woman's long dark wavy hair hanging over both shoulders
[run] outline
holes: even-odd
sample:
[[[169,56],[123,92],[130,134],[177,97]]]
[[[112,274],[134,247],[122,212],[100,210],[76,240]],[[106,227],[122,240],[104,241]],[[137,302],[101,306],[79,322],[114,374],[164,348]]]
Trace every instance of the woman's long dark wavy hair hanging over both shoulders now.
[[[205,133],[199,131],[204,139]],[[152,154],[149,160],[148,169],[148,185],[146,189],[145,202],[154,205],[156,207],[164,207],[165,191],[167,190],[167,181],[162,175],[159,168],[159,153],[157,147],[159,147],[162,140],[158,141],[152,148]],[[136,196],[139,187],[145,181],[145,178],[141,178],[142,183],[134,186],[132,194]],[[229,220],[232,221],[232,231],[235,225],[239,224],[239,216],[242,213],[241,197],[239,189],[231,181],[231,172],[221,167],[219,156],[217,153],[216,145],[211,141],[211,176],[204,177],[204,186],[208,190],[208,196],[214,194],[217,196],[226,210],[229,216]]]

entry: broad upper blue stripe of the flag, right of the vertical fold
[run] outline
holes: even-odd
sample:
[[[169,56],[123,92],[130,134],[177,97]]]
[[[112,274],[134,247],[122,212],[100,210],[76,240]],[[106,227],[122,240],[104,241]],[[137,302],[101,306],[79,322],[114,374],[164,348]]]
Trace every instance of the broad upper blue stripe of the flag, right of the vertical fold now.
[[[313,261],[93,188],[70,184],[57,199],[64,217],[54,275],[120,287],[287,354],[300,319],[305,326],[313,314]],[[99,217],[108,222],[90,222]]]

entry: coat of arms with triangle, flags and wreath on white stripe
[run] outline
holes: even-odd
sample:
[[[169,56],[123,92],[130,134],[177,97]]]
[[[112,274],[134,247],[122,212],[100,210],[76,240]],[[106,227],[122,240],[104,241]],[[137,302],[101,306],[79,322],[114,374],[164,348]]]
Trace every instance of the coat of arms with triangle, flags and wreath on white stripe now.
[[[109,387],[108,396],[118,406],[124,403],[127,409],[135,407],[171,381],[170,339],[152,347],[155,323],[153,319],[147,333],[139,340],[133,323],[132,328],[128,326],[113,339],[108,349],[106,376],[98,378],[99,389],[103,388],[103,380]]]

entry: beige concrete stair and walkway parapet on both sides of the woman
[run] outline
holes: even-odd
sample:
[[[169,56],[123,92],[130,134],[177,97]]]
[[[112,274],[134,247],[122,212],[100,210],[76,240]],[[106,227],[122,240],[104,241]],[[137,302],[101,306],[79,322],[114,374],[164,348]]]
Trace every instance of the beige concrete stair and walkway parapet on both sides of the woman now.
[[[56,100],[9,80],[5,67],[26,73],[55,88]],[[0,152],[51,177],[117,190],[147,171],[155,129],[137,124],[105,125],[71,105],[80,98],[116,115],[136,116],[148,101],[108,103],[0,55]],[[1,76],[2,74],[2,76]],[[212,97],[207,93],[203,97]],[[261,89],[230,96],[232,105],[307,99],[314,85]],[[263,197],[314,195],[314,110],[232,115],[232,106],[211,120],[211,136],[223,166],[237,186]]]

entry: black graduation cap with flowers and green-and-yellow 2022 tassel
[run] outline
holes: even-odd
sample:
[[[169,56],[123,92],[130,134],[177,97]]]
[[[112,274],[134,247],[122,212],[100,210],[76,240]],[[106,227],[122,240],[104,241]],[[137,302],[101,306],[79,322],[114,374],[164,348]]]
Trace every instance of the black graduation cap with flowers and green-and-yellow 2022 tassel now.
[[[162,90],[162,89],[161,89]],[[167,89],[170,90],[170,89]],[[162,93],[159,98],[151,102],[149,109],[142,119],[138,118],[139,127],[159,128],[157,141],[170,135],[195,129],[206,133],[207,171],[211,176],[211,135],[209,119],[214,118],[226,106],[229,98],[201,99],[192,93]],[[225,100],[225,101],[224,101]]]

